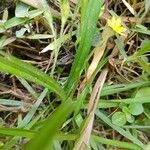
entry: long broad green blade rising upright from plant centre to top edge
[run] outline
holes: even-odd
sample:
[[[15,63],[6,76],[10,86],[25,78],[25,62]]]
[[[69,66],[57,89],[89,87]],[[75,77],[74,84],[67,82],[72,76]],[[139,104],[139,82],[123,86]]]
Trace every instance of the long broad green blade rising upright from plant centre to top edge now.
[[[80,45],[77,49],[70,76],[65,87],[68,93],[74,92],[80,79],[80,75],[84,68],[87,56],[90,52],[92,39],[96,30],[96,24],[100,14],[101,6],[101,0],[90,0],[87,4],[86,15],[83,18],[84,20],[81,20],[81,22],[83,22],[83,26],[81,31]]]

